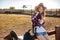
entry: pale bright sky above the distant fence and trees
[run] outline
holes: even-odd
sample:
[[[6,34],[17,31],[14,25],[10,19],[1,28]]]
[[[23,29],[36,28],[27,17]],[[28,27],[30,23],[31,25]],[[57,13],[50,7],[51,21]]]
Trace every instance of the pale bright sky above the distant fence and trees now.
[[[47,9],[60,8],[60,0],[0,0],[0,8],[8,9],[10,6],[13,6],[16,9],[22,9],[22,6],[26,5],[27,9],[34,9],[41,2],[44,3]]]

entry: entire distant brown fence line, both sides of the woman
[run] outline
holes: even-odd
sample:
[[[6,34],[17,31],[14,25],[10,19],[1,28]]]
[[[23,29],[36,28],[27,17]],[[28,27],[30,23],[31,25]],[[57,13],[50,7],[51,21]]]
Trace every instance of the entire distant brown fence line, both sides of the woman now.
[[[9,14],[28,14],[31,15],[34,10],[10,10],[10,9],[0,9],[0,13],[9,13]],[[60,16],[60,9],[47,9],[46,16]]]

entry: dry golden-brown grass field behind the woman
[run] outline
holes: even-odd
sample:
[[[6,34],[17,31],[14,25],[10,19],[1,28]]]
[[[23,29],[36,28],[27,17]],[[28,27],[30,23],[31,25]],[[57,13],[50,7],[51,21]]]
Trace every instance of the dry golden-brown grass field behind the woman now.
[[[31,29],[31,16],[17,14],[0,14],[0,40],[14,30],[17,35],[23,35]],[[60,25],[60,18],[45,17],[45,28],[47,31],[55,30],[55,25]],[[50,40],[55,40],[55,36],[49,36]]]

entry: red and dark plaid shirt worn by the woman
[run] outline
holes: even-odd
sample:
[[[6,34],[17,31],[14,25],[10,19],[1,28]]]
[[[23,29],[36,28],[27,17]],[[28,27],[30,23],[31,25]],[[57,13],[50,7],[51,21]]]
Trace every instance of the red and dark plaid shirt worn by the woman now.
[[[31,20],[32,20],[32,26],[35,27],[35,26],[41,26],[42,24],[39,22],[40,19],[37,18],[37,16],[39,15],[38,12],[32,14],[32,17],[31,17]]]

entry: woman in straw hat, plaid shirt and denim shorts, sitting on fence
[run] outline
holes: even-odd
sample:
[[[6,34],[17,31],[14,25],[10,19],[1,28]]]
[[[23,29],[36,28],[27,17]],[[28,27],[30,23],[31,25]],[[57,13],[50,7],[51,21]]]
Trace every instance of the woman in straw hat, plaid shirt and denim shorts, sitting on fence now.
[[[38,40],[49,40],[48,34],[44,28],[45,7],[40,3],[35,7],[35,13],[32,15],[32,26]]]

